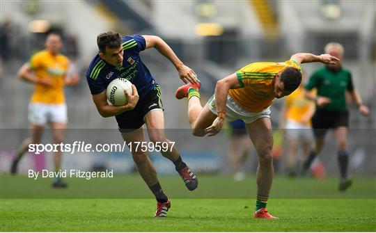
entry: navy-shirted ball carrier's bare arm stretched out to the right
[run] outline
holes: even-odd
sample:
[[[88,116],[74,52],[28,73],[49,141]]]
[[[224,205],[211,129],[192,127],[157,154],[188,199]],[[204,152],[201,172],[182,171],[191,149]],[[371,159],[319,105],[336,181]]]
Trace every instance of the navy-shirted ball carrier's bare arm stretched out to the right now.
[[[146,40],[146,49],[154,47],[160,54],[168,58],[171,63],[173,63],[176,70],[178,70],[180,79],[182,79],[184,83],[190,82],[192,84],[198,84],[194,70],[187,67],[187,65],[184,65],[178,56],[176,56],[176,54],[173,52],[171,47],[169,47],[169,45],[167,45],[162,38],[159,38],[156,35],[143,35],[143,38]]]

